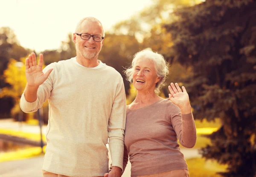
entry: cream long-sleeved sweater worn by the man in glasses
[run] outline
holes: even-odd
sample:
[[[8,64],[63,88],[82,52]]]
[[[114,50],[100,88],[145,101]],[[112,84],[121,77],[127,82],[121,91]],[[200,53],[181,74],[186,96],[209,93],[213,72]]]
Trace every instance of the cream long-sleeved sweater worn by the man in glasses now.
[[[37,100],[29,103],[24,94],[20,99],[26,113],[49,101],[42,169],[72,177],[103,176],[108,172],[107,143],[113,166],[122,168],[126,116],[122,76],[107,65],[82,67],[76,58],[49,64],[44,72],[49,68],[54,70],[39,87]]]

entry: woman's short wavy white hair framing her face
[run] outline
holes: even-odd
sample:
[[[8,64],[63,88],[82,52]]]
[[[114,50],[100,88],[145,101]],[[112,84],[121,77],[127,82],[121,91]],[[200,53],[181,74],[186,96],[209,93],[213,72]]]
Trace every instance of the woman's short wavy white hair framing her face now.
[[[161,88],[165,85],[164,81],[166,80],[166,77],[169,74],[169,65],[164,59],[163,55],[157,52],[153,52],[149,49],[144,49],[140,52],[137,52],[133,56],[131,66],[124,71],[126,75],[126,80],[132,83],[132,76],[133,76],[134,67],[135,67],[134,65],[136,61],[141,57],[148,58],[154,63],[157,76],[160,77],[160,81],[157,82],[156,88],[155,88],[155,91],[158,93],[161,90]]]

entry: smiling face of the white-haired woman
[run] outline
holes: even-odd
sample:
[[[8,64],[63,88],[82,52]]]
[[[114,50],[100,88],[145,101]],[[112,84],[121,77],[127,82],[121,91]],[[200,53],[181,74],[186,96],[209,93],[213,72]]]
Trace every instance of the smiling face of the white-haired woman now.
[[[154,91],[156,83],[160,81],[154,62],[145,57],[140,57],[135,62],[132,78],[134,87],[139,91]]]

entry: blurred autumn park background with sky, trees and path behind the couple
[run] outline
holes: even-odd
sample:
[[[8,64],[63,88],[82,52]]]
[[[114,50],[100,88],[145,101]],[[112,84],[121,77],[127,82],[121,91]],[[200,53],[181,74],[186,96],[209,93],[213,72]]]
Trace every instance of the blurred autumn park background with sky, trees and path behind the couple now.
[[[105,27],[99,59],[122,74],[127,104],[136,92],[123,70],[145,48],[169,62],[167,84],[186,87],[198,138],[180,149],[191,177],[256,177],[255,0],[9,0],[0,16],[0,177],[42,177],[48,103],[20,110],[24,61],[74,57],[73,32],[87,16]]]

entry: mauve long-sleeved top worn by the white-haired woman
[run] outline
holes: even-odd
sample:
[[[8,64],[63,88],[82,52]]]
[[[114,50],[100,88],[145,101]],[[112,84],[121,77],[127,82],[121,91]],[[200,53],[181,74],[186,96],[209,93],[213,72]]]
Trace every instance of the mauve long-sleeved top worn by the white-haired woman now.
[[[123,168],[129,155],[131,177],[188,169],[178,139],[186,148],[195,145],[192,113],[181,115],[180,108],[169,99],[137,110],[127,107]]]

